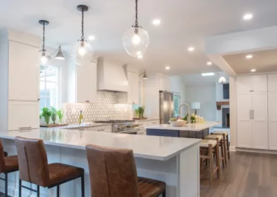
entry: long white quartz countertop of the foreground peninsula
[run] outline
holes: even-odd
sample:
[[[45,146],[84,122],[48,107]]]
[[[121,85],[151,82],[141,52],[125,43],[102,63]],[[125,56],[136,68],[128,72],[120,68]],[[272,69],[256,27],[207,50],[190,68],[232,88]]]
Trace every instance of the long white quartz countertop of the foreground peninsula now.
[[[111,148],[129,148],[134,151],[135,157],[151,160],[170,160],[170,158],[179,155],[179,153],[200,142],[200,139],[128,135],[60,128],[0,131],[0,138],[3,139],[15,139],[16,136],[43,139],[44,144],[83,150],[87,144]]]

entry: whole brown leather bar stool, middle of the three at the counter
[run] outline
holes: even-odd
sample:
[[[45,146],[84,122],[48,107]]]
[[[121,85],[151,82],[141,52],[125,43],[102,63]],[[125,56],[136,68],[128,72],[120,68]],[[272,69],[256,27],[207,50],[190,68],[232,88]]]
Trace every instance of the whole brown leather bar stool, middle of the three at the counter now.
[[[19,162],[19,197],[21,188],[37,192],[39,187],[57,187],[57,197],[60,196],[60,185],[70,180],[81,178],[82,197],[84,197],[84,169],[66,164],[48,164],[44,142],[42,139],[15,137]],[[21,181],[37,185],[37,190],[21,185]]]

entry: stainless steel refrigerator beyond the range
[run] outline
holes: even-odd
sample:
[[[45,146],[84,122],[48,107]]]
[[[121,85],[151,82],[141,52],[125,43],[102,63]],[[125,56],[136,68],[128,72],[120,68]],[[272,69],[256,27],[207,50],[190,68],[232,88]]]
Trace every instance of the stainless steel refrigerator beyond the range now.
[[[160,92],[160,123],[168,124],[172,117],[174,117],[173,93]]]

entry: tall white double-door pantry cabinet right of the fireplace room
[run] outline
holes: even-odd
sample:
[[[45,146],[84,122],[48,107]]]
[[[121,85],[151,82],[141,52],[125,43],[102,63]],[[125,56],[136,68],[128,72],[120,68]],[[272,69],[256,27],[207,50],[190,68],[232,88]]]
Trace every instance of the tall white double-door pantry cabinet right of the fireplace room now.
[[[237,77],[238,147],[268,149],[267,75]]]

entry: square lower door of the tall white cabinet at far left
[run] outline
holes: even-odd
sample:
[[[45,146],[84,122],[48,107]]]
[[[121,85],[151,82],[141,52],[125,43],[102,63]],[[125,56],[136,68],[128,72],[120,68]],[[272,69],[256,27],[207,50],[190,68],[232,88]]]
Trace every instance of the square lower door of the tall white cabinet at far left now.
[[[39,128],[39,101],[9,101],[8,130]]]

